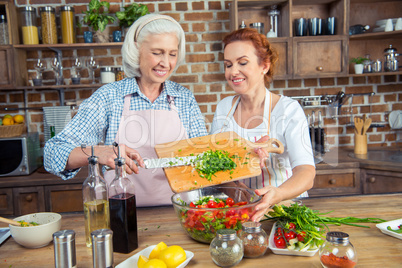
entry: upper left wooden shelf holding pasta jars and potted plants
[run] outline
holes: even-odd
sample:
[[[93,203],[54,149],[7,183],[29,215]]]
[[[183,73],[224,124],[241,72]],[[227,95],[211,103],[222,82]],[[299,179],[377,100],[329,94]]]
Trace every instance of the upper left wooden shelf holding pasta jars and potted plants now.
[[[44,50],[44,49],[98,49],[98,48],[121,48],[123,42],[112,43],[75,43],[75,44],[39,44],[39,45],[14,45],[14,48],[23,50]]]

